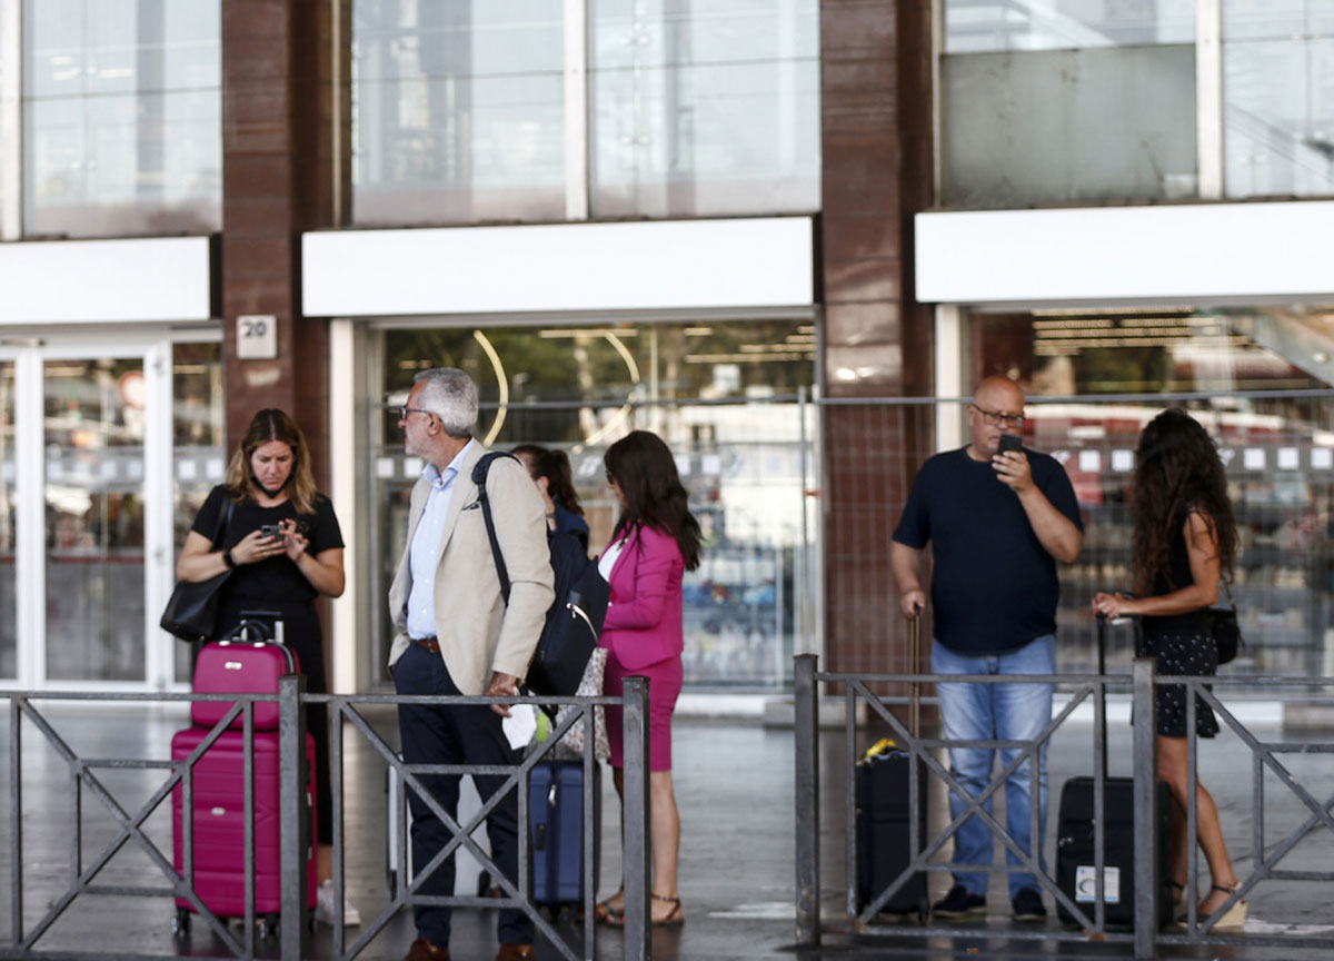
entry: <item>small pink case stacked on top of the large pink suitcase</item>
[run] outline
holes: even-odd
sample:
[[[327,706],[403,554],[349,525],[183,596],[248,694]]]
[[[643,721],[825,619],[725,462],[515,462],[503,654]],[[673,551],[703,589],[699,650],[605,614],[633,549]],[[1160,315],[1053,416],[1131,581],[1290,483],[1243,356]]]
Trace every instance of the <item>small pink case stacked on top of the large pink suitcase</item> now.
[[[285,645],[272,641],[215,641],[204,645],[195,662],[196,694],[273,694],[277,679],[296,674],[301,666]],[[231,710],[233,701],[192,701],[189,718],[212,727]],[[240,730],[237,714],[231,726]],[[255,703],[255,730],[277,730],[277,702]]]

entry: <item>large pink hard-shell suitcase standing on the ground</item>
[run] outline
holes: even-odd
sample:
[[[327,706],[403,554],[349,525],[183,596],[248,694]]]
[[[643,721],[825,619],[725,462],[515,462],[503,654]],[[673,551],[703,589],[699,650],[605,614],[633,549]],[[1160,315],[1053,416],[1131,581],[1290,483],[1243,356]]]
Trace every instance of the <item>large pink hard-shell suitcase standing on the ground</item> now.
[[[171,742],[173,761],[189,755],[208,735],[207,727],[176,731]],[[245,917],[245,735],[223,731],[195,762],[195,893],[219,917]],[[315,810],[315,738],[305,735],[309,779],[305,804],[311,817],[311,838],[317,837]],[[255,913],[276,916],[283,889],[279,856],[281,813],[279,810],[277,733],[255,733]],[[181,850],[181,787],[172,791],[172,862],[184,869]],[[307,852],[307,902],[315,906],[319,882],[315,877],[315,848]],[[177,909],[193,910],[189,901],[176,898]],[[180,918],[180,912],[177,912]],[[268,920],[272,924],[273,918]]]

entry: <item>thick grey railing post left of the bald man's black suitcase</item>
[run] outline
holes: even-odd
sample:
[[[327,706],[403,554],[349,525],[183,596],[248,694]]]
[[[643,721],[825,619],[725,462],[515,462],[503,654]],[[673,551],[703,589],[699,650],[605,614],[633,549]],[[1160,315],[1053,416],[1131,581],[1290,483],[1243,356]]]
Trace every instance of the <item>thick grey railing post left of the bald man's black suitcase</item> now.
[[[796,942],[820,942],[820,749],[815,654],[794,659],[796,742]]]

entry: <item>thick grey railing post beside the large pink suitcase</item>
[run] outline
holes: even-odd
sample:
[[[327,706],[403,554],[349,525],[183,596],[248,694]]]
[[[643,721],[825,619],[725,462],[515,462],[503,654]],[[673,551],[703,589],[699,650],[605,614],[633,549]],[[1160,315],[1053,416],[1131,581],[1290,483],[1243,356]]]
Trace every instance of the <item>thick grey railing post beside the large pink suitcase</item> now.
[[[285,674],[277,685],[277,771],[279,810],[279,874],[283,878],[281,896],[281,957],[300,961],[305,957],[307,852],[313,844],[311,820],[307,817],[305,791],[305,714],[301,694],[305,677]]]

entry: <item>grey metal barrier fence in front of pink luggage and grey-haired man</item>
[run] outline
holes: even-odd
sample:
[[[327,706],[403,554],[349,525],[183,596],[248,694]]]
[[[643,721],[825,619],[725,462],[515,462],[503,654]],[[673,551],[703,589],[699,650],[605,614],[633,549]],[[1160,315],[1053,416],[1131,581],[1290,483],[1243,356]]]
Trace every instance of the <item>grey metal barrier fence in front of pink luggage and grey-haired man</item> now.
[[[403,908],[412,905],[450,905],[472,908],[518,908],[527,913],[538,929],[551,941],[555,950],[563,957],[575,961],[576,958],[594,958],[594,837],[592,837],[592,809],[598,802],[592,797],[595,781],[591,777],[592,766],[596,761],[594,750],[594,707],[620,706],[624,710],[624,957],[648,957],[648,681],[642,677],[631,677],[624,682],[622,697],[566,697],[566,698],[494,698],[494,697],[422,697],[399,694],[307,694],[305,678],[300,675],[284,677],[277,694],[113,694],[113,693],[61,693],[61,691],[0,691],[0,698],[9,701],[9,850],[11,865],[11,938],[8,945],[0,945],[0,958],[68,958],[68,957],[96,957],[115,958],[117,961],[131,961],[137,958],[176,957],[171,954],[137,954],[116,953],[115,930],[99,929],[97,950],[71,953],[69,950],[44,950],[39,946],[41,938],[61,918],[76,898],[80,896],[131,896],[141,898],[181,898],[188,902],[192,913],[197,914],[216,936],[217,941],[231,957],[256,957],[256,912],[255,912],[255,743],[253,743],[253,715],[257,703],[277,703],[277,753],[279,753],[279,814],[280,814],[280,884],[281,884],[281,912],[279,929],[279,957],[284,961],[299,961],[308,957],[308,929],[309,910],[307,888],[308,856],[312,852],[311,825],[301,813],[305,809],[305,774],[304,750],[305,721],[303,705],[328,703],[329,710],[329,774],[332,785],[332,810],[327,813],[334,825],[334,890],[335,890],[335,924],[334,954],[339,961],[355,958],[367,949],[374,937],[384,929],[392,917]],[[235,702],[231,709],[215,723],[200,741],[200,743],[184,758],[180,759],[153,759],[153,758],[92,758],[80,757],[67,739],[56,730],[56,726],[33,703],[39,702],[148,702],[171,703],[192,701],[221,701]],[[356,709],[358,705],[555,705],[575,707],[567,718],[554,725],[551,735],[534,749],[527,751],[522,761],[512,766],[483,766],[483,765],[420,765],[404,763],[396,751],[372,729],[366,717]],[[244,898],[245,916],[240,937],[228,924],[215,914],[195,890],[195,857],[193,841],[195,826],[192,817],[181,817],[181,870],[176,870],[172,857],[164,854],[153,838],[144,829],[144,822],[163,805],[175,791],[181,791],[181,810],[193,810],[195,766],[204,757],[205,751],[229,730],[232,723],[240,718],[244,742],[243,762],[243,870],[244,870]],[[24,719],[32,723],[55,749],[60,761],[68,765],[69,770],[69,809],[47,810],[59,818],[60,824],[68,824],[69,853],[68,853],[68,884],[65,890],[55,894],[47,910],[33,924],[28,924],[24,914],[24,809],[23,809],[23,729]],[[392,902],[372,920],[352,945],[344,944],[343,930],[343,893],[344,893],[344,854],[346,836],[343,830],[343,726],[350,725],[359,731],[371,747],[387,765],[402,774],[404,789],[416,791],[432,813],[442,820],[451,840],[432,862],[419,872],[414,881],[400,885]],[[571,948],[566,940],[546,921],[531,902],[530,890],[531,874],[531,845],[519,845],[519,865],[516,882],[510,882],[504,874],[495,868],[490,857],[472,841],[471,833],[478,828],[486,816],[500,802],[503,795],[511,790],[518,793],[520,838],[527,836],[528,825],[528,771],[540,762],[576,723],[584,726],[584,781],[583,781],[583,812],[584,812],[584,878],[583,878],[583,908],[587,922],[582,952]],[[99,777],[101,770],[161,770],[167,771],[165,781],[152,790],[133,812],[127,810],[116,799],[115,794]],[[507,781],[490,798],[483,801],[482,810],[471,820],[459,824],[446,812],[442,805],[430,794],[419,779],[422,775],[452,774],[452,775],[502,775]],[[84,790],[92,794],[111,814],[115,821],[112,840],[85,864],[84,845]],[[28,816],[29,818],[32,814]],[[28,825],[32,826],[31,824]],[[148,856],[151,862],[161,872],[165,885],[152,886],[151,884],[97,884],[97,876],[107,864],[129,842]],[[492,873],[492,878],[502,886],[504,897],[478,898],[478,897],[439,897],[419,894],[423,881],[447,857],[451,857],[460,848],[471,850]],[[407,853],[407,841],[400,834],[399,864],[403,864]],[[153,876],[156,880],[156,876]],[[133,924],[141,917],[131,917],[127,924]],[[264,920],[260,918],[263,922]],[[295,922],[293,922],[295,921]],[[268,920],[272,925],[272,920]],[[188,930],[188,926],[187,926]],[[260,938],[263,940],[263,938]],[[265,957],[272,957],[272,949],[264,950]]]

